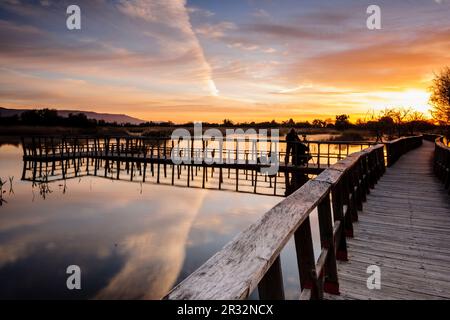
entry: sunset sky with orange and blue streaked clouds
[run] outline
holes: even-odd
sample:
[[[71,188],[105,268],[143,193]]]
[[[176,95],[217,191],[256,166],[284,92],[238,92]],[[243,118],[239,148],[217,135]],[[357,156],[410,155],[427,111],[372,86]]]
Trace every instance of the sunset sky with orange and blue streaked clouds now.
[[[66,9],[81,9],[68,30]],[[369,30],[369,5],[381,29]],[[0,107],[154,121],[428,114],[450,0],[2,0]]]

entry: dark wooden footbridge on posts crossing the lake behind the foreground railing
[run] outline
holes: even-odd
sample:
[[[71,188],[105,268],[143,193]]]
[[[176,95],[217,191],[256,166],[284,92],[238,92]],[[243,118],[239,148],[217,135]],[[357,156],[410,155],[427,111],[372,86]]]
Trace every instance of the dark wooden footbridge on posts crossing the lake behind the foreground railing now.
[[[345,158],[351,151],[362,150],[373,144],[334,141],[304,143],[311,149],[311,159],[302,165],[296,165],[289,160],[286,162],[285,141],[252,143],[250,140],[234,139],[231,146],[219,148],[215,145],[213,148],[209,147],[211,141],[192,139],[184,147],[177,149],[177,152],[191,156],[193,161],[174,164],[171,154],[176,143],[170,139],[28,137],[22,139],[22,179],[42,183],[98,176],[141,183],[286,196],[296,189],[298,180],[305,182],[309,177],[320,174],[331,164]],[[261,169],[267,166],[257,161],[269,154],[276,156],[279,166],[274,175],[262,174]],[[206,156],[214,159],[214,162],[207,162]],[[299,174],[304,178],[299,179]],[[297,179],[293,178],[294,175]]]

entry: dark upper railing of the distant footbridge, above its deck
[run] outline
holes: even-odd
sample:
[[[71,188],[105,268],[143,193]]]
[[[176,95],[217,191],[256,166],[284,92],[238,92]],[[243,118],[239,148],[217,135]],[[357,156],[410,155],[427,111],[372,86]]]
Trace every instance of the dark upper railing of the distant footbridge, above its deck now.
[[[234,138],[231,145],[223,149],[209,147],[207,139],[196,140],[192,138],[184,147],[177,150],[181,155],[206,154],[217,159],[222,158],[248,163],[256,161],[257,157],[267,156],[276,150],[277,161],[284,164],[286,160],[287,142],[284,140],[238,139]],[[261,143],[261,144],[260,144]],[[262,144],[264,143],[264,144]],[[292,144],[291,154],[296,153],[299,142]],[[303,141],[310,149],[309,161],[305,166],[326,168],[331,164],[348,156],[353,151],[360,151],[376,143],[370,141]],[[254,144],[254,145],[252,145]],[[169,159],[174,141],[170,138],[158,137],[92,137],[92,136],[36,136],[22,138],[23,154],[27,159],[47,159],[55,157],[82,157],[82,156],[107,156],[116,155],[122,157]],[[292,159],[292,157],[290,157]]]

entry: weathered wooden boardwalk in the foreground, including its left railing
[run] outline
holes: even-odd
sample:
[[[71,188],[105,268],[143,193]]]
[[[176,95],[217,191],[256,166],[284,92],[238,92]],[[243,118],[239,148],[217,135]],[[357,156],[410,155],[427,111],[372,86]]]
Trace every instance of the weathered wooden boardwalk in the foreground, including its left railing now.
[[[291,237],[299,299],[450,298],[450,148],[439,139],[398,139],[386,147],[388,168],[383,149],[372,146],[330,166],[166,299],[245,299],[255,289],[260,299],[284,299],[280,252]],[[319,219],[318,256],[313,211]],[[380,270],[379,289],[367,285],[370,266]]]

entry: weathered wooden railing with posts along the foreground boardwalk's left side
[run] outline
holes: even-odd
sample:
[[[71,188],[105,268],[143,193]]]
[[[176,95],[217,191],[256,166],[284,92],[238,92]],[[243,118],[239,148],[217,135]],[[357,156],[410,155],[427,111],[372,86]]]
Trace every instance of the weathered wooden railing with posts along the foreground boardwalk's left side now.
[[[249,226],[172,289],[166,299],[245,299],[258,287],[260,299],[283,299],[280,252],[294,236],[301,299],[339,293],[336,259],[347,260],[369,189],[385,170],[383,145],[353,153],[332,165]],[[321,252],[314,257],[310,213],[317,208]]]

